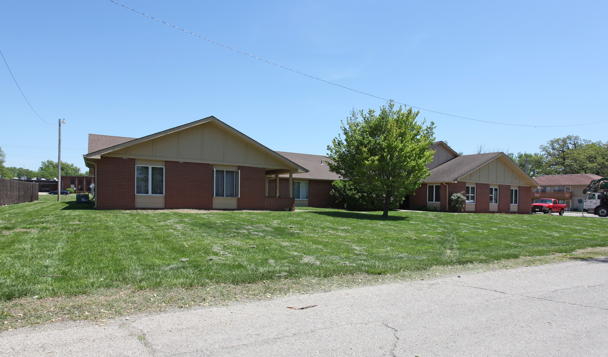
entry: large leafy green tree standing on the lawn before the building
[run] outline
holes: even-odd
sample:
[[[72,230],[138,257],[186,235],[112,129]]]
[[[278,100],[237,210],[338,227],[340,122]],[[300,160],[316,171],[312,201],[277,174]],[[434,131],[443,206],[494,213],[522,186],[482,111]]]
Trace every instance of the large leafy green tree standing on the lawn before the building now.
[[[426,165],[433,160],[435,124],[417,123],[418,113],[395,109],[393,101],[378,113],[353,109],[346,124],[342,121],[342,134],[327,146],[330,170],[382,202],[383,217],[389,216],[391,202],[401,202],[430,174]]]

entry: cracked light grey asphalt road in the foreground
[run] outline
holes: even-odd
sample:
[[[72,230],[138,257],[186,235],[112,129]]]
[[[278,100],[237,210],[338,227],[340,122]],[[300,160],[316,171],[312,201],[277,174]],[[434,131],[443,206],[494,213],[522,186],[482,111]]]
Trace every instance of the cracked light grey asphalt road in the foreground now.
[[[607,356],[608,258],[21,328],[0,355]]]

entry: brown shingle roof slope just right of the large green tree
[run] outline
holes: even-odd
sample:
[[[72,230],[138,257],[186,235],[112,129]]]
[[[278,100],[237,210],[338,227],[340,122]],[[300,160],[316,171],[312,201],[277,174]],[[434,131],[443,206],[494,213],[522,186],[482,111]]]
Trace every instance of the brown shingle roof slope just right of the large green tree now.
[[[430,171],[430,176],[424,182],[454,182],[459,178],[480,168],[494,158],[504,155],[502,152],[488,154],[461,155],[437,166]]]

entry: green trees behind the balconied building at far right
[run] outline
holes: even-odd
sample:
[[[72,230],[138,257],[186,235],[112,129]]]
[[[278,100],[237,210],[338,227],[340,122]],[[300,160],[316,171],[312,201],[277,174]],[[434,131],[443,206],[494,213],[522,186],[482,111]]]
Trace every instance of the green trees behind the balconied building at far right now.
[[[531,177],[595,174],[608,177],[608,141],[590,141],[577,135],[556,138],[541,145],[541,152],[508,154]]]

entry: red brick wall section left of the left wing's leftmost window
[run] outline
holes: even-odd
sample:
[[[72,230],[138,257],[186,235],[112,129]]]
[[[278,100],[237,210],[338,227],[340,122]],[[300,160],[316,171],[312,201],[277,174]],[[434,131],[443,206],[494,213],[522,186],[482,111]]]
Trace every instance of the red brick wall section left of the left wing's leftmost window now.
[[[97,161],[97,209],[135,208],[135,160],[103,157]]]

